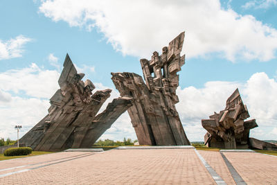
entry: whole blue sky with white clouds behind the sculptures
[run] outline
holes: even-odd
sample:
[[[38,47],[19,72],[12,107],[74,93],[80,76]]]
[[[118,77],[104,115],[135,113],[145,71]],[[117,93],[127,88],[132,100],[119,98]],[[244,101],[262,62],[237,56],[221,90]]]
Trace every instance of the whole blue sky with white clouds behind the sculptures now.
[[[139,59],[186,31],[176,106],[188,139],[204,140],[201,119],[237,87],[259,125],[251,136],[277,139],[276,12],[277,0],[2,0],[0,138],[16,139],[17,124],[23,136],[47,114],[66,53],[116,98],[111,72],[142,75]],[[102,139],[124,136],[136,139],[127,113]]]

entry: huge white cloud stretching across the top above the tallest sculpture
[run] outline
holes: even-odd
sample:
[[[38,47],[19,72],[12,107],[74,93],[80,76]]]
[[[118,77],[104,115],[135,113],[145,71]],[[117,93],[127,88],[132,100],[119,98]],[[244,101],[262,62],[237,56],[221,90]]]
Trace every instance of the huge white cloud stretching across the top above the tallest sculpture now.
[[[96,27],[124,55],[150,58],[186,30],[188,58],[218,53],[228,60],[276,58],[277,30],[251,15],[224,10],[213,1],[46,0],[39,11],[53,21]]]

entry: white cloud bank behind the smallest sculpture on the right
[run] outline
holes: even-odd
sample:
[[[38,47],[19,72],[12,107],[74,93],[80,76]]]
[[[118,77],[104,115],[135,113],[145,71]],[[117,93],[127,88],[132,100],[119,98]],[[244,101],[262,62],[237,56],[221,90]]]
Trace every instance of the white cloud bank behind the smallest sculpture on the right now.
[[[203,141],[206,130],[201,119],[225,108],[226,99],[239,88],[242,100],[249,109],[250,118],[256,118],[259,127],[251,130],[257,139],[272,139],[271,130],[277,123],[277,81],[266,73],[254,73],[246,83],[206,82],[204,88],[177,89],[180,102],[176,105],[188,139]],[[200,126],[199,126],[200,125]],[[271,134],[269,134],[271,133]],[[276,136],[275,136],[276,137]]]

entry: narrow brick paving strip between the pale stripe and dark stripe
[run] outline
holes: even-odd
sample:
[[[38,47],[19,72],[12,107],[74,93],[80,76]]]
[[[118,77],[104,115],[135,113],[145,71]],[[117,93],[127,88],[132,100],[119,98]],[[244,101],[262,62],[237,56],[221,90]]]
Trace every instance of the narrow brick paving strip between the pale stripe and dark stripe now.
[[[215,172],[222,177],[226,184],[235,184],[235,181],[229,172],[220,152],[198,150],[200,155],[207,161],[207,163],[215,170]]]

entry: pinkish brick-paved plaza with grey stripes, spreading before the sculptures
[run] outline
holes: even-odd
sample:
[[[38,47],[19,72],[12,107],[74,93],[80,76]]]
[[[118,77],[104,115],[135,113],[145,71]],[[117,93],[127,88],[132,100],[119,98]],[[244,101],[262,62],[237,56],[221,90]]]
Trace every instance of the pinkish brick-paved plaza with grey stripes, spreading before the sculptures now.
[[[256,152],[56,152],[0,161],[0,184],[277,184],[276,167],[277,157]]]

